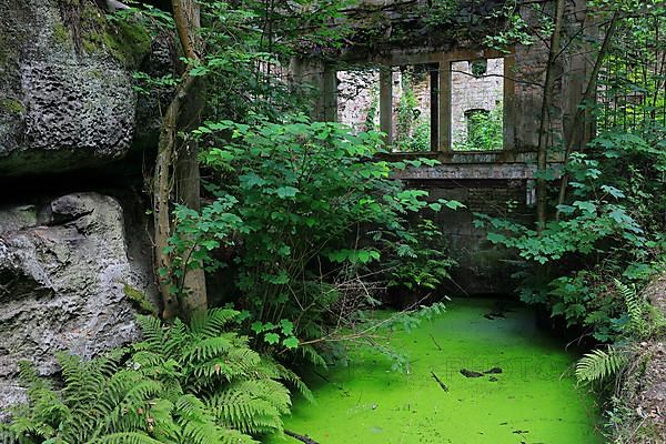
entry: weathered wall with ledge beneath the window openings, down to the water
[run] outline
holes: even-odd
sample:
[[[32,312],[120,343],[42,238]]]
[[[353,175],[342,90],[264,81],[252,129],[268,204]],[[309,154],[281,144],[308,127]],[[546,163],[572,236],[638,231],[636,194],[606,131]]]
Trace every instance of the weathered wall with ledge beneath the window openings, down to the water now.
[[[426,215],[441,228],[448,253],[458,263],[450,295],[509,294],[515,290],[511,275],[518,258],[487,241],[487,231],[474,225],[475,213],[508,216],[531,223],[534,219],[533,188],[528,178],[534,168],[524,163],[445,164],[411,169],[398,175],[411,188],[427,190],[431,199],[456,200],[464,209]]]

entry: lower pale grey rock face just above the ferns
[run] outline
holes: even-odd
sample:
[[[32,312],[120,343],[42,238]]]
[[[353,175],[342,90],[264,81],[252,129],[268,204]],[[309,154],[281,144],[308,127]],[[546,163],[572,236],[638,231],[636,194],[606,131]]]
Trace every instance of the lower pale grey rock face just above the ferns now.
[[[21,397],[20,360],[49,375],[57,351],[90,357],[137,337],[125,285],[154,287],[131,251],[121,205],[105,195],[0,209],[0,416]]]

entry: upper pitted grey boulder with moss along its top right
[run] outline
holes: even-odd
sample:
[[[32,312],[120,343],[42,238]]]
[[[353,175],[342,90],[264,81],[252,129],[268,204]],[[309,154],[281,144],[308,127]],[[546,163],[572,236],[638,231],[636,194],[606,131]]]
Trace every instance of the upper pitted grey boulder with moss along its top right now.
[[[94,0],[0,0],[0,176],[99,167],[130,151],[132,72],[150,39],[105,13]]]

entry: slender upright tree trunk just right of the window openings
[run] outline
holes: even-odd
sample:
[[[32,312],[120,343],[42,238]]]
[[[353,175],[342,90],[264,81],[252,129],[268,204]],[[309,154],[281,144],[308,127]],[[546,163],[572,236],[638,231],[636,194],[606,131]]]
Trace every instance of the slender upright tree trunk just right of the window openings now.
[[[541,124],[538,130],[538,149],[536,153],[536,229],[541,233],[547,219],[547,181],[546,169],[548,160],[548,142],[551,134],[551,108],[553,105],[553,85],[555,83],[555,62],[559,53],[562,24],[564,17],[564,0],[557,0],[555,6],[555,29],[551,36],[551,50],[546,65],[544,82],[544,100],[542,102]]]

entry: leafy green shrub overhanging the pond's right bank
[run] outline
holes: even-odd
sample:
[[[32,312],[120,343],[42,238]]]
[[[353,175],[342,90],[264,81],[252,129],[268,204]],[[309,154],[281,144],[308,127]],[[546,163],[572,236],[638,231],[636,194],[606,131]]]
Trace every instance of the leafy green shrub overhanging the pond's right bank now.
[[[602,132],[585,153],[574,152],[568,200],[541,233],[507,219],[477,215],[475,222],[529,264],[517,275],[523,301],[547,303],[553,315],[603,342],[620,337],[628,320],[614,279],[640,284],[664,270],[666,152],[655,125]]]

